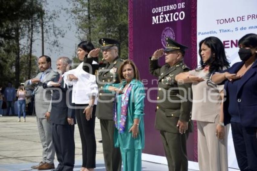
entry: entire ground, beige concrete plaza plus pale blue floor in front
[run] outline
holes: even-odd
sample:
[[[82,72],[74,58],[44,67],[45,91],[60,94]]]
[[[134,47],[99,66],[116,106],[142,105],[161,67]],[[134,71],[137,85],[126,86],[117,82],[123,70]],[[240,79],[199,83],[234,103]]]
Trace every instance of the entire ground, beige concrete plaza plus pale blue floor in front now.
[[[26,122],[17,122],[17,116],[0,117],[0,171],[32,170],[42,160],[42,146],[37,131],[35,116],[27,116]],[[99,120],[96,119],[96,171],[105,171]],[[80,134],[75,126],[75,166],[78,171],[82,165]],[[58,162],[55,157],[55,166]],[[34,169],[35,170],[35,169]],[[166,171],[167,165],[142,161],[144,171]]]

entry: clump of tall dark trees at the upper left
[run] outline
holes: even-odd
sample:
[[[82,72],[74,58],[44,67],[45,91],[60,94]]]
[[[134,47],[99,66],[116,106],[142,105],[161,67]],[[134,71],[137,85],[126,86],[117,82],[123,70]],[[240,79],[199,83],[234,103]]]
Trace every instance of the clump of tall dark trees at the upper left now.
[[[36,63],[32,55],[33,34],[40,32],[41,18],[44,20],[45,37],[55,37],[47,42],[52,45],[50,47],[60,48],[58,37],[63,36],[64,32],[54,25],[54,19],[59,17],[58,9],[44,10],[46,0],[0,0],[0,3],[0,80],[15,80],[17,88],[20,81],[24,82],[20,78],[30,79],[34,72]],[[21,44],[24,38],[28,38],[29,45]],[[22,57],[27,60],[26,63],[20,63]]]

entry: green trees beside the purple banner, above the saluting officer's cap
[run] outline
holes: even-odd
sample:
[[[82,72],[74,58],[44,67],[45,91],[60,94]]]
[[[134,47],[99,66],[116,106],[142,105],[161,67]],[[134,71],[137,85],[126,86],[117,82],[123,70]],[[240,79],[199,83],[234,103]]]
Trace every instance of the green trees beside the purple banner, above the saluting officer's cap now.
[[[120,57],[128,58],[128,0],[67,0],[70,12],[78,27],[78,37],[99,45],[101,37],[119,40]],[[82,35],[82,36],[80,36]]]

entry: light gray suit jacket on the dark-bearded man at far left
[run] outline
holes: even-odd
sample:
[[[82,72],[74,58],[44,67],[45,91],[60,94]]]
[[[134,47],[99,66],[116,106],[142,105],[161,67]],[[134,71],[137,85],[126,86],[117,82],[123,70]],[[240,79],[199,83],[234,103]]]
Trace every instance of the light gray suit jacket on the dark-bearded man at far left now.
[[[40,79],[42,76],[42,72],[38,73],[35,78]],[[43,83],[44,82],[49,82],[49,81],[54,81],[54,78],[58,75],[57,72],[52,70],[52,68],[47,69],[44,71],[44,79],[43,82],[38,82],[38,83],[32,83],[30,84],[30,80],[27,80],[24,83],[25,88],[34,88],[34,93],[35,93],[35,112],[37,115],[37,118],[45,118],[45,113],[47,111],[51,111],[51,98],[52,98],[52,92],[51,90],[47,90],[43,88]]]

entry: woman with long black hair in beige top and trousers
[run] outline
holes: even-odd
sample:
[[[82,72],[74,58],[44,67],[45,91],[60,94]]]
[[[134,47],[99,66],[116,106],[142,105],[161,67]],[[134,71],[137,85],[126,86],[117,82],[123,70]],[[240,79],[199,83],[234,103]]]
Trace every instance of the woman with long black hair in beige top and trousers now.
[[[198,163],[201,171],[227,171],[227,135],[223,123],[223,86],[210,82],[212,73],[229,67],[222,42],[207,37],[199,43],[200,67],[178,74],[177,82],[192,82],[192,120],[197,121]]]

